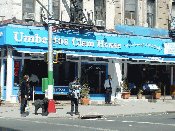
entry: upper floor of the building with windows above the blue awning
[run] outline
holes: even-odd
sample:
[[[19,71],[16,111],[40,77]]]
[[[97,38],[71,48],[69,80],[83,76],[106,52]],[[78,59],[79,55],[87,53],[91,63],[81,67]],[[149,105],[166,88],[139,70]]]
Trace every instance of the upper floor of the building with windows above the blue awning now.
[[[39,1],[48,9],[48,0]],[[107,30],[115,29],[115,25],[168,30],[173,16],[173,0],[53,0],[54,19],[79,23],[91,20]],[[1,0],[0,17],[43,22],[48,14],[37,0]]]

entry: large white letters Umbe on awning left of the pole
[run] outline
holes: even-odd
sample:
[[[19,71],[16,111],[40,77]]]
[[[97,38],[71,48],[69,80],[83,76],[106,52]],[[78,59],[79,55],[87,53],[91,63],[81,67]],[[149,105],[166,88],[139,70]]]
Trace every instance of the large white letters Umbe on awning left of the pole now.
[[[21,42],[24,40],[24,42],[36,42],[36,43],[41,43],[43,42],[44,44],[47,43],[47,37],[43,37],[41,38],[40,36],[38,36],[38,34],[35,34],[35,36],[27,36],[27,35],[24,35],[23,32],[20,32],[20,36],[19,36],[19,39],[18,39],[18,34],[19,32],[13,32],[14,33],[14,39],[15,41],[18,41],[18,42]]]

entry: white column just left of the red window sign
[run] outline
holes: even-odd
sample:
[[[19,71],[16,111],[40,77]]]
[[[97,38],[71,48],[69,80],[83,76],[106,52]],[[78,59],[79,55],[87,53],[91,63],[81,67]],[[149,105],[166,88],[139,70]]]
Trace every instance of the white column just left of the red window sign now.
[[[13,59],[12,49],[7,48],[7,80],[6,80],[6,101],[11,101],[13,81]]]

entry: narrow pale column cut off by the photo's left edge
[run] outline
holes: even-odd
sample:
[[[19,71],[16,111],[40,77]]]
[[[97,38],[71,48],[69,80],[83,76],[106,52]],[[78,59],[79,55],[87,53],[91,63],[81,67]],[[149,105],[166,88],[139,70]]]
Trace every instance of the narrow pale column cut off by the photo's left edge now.
[[[3,96],[3,89],[4,89],[4,74],[5,74],[5,64],[4,64],[4,49],[1,50],[1,100],[2,100],[2,96]]]

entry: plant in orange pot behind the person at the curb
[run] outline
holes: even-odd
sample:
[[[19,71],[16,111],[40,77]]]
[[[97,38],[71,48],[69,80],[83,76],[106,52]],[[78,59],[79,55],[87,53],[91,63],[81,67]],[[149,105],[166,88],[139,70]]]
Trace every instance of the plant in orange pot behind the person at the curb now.
[[[87,76],[82,77],[80,83],[82,85],[80,102],[82,105],[88,105],[90,101],[90,98],[88,98],[90,91],[90,87],[88,84],[88,77]]]

